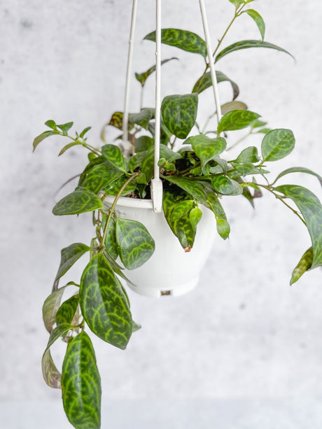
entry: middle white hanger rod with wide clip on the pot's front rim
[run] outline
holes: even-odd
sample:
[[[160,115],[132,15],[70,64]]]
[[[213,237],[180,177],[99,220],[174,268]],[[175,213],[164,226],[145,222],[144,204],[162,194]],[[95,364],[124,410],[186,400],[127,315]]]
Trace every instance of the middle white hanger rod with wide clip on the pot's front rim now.
[[[161,0],[156,0],[155,30],[155,141],[154,141],[154,177],[151,181],[151,199],[153,211],[162,211],[162,181],[160,179],[160,125],[161,125]]]

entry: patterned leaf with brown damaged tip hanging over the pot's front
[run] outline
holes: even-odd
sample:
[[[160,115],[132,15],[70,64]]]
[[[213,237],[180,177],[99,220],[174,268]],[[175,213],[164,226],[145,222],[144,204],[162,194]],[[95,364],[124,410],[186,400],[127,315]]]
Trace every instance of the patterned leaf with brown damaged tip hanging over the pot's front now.
[[[196,233],[196,228],[190,222],[190,211],[194,202],[189,198],[186,192],[175,195],[174,192],[165,189],[162,201],[167,223],[186,252],[193,247]]]

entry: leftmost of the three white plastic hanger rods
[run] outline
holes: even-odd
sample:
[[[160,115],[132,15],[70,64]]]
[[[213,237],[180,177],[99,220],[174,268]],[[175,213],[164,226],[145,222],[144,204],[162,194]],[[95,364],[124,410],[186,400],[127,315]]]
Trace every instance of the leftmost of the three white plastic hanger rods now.
[[[127,72],[126,72],[125,99],[124,99],[123,125],[122,125],[123,144],[124,144],[125,148],[129,144],[128,136],[127,136],[127,128],[129,125],[130,83],[131,83],[131,73],[132,73],[134,31],[135,31],[136,20],[137,20],[137,0],[133,0],[131,28],[130,28],[130,39],[129,39],[129,51],[127,54]]]

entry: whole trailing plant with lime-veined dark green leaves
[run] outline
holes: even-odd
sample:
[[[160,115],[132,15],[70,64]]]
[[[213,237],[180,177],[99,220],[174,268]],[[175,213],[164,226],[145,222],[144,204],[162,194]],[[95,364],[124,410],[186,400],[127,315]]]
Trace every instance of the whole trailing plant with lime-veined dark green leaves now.
[[[188,257],[190,251],[193,253],[198,228],[206,213],[213,216],[219,236],[229,237],[230,224],[223,209],[226,196],[244,197],[254,206],[256,198],[269,192],[297,216],[311,237],[311,247],[304,251],[293,270],[292,284],[304,272],[322,265],[322,206],[311,190],[278,183],[283,176],[292,173],[310,174],[322,183],[321,176],[305,167],[290,167],[273,180],[269,178],[270,162],[283,159],[294,149],[293,132],[267,128],[258,113],[249,111],[244,102],[237,100],[237,83],[222,71],[216,71],[217,83],[230,83],[232,100],[222,106],[224,114],[218,118],[215,128],[209,125],[214,122],[214,111],[209,112],[204,127],[196,122],[199,94],[212,87],[211,62],[217,64],[226,55],[246,48],[269,48],[288,54],[283,48],[264,41],[265,22],[255,9],[248,8],[251,1],[230,0],[235,12],[210,59],[207,43],[199,35],[183,29],[162,29],[162,43],[204,58],[204,69],[197,76],[192,92],[172,94],[162,101],[158,163],[163,185],[162,216],[179,240],[182,253],[186,252]],[[245,15],[255,22],[261,39],[237,41],[222,48],[232,24]],[[155,38],[153,31],[144,39],[155,41]],[[170,59],[163,60],[162,64]],[[143,73],[136,73],[142,91],[155,69],[151,66]],[[122,112],[113,113],[106,126],[123,129],[123,120]],[[130,156],[121,150],[122,136],[118,142],[99,148],[88,142],[90,127],[79,134],[71,134],[73,122],[58,125],[48,120],[45,125],[48,129],[34,139],[34,149],[48,137],[59,135],[67,141],[59,155],[74,146],[83,146],[89,151],[88,163],[76,189],[57,202],[52,212],[56,216],[92,212],[95,237],[89,244],[73,243],[62,249],[52,293],[43,304],[43,321],[50,334],[43,354],[43,377],[50,387],[62,388],[66,416],[74,428],[100,428],[101,384],[87,332],[125,349],[132,332],[139,329],[132,320],[123,282],[136,288],[131,272],[151,259],[155,239],[144,223],[118,213],[118,203],[122,197],[151,199],[155,109],[141,106],[137,113],[129,115],[126,131],[132,145]],[[228,134],[232,139],[232,132],[242,129],[246,129],[243,141],[250,134],[262,134],[260,148],[244,147],[234,159],[227,160],[225,150],[237,144],[228,145]],[[212,230],[207,231],[209,236],[212,233]],[[60,286],[66,272],[85,254],[89,255],[89,261],[81,279]],[[63,301],[63,294],[69,289],[74,292]],[[164,295],[169,293],[165,290]],[[50,347],[59,338],[67,343],[62,373],[50,354]]]

